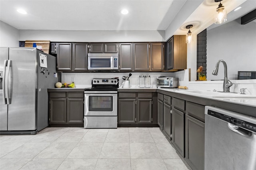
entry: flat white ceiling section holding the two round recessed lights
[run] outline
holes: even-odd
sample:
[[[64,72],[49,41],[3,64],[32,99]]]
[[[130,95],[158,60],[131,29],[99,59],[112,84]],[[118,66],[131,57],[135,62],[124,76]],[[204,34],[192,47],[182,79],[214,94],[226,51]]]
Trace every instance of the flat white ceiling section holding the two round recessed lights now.
[[[166,30],[186,0],[0,0],[0,20],[20,30]],[[28,14],[19,14],[23,8]],[[122,15],[120,10],[129,10]]]

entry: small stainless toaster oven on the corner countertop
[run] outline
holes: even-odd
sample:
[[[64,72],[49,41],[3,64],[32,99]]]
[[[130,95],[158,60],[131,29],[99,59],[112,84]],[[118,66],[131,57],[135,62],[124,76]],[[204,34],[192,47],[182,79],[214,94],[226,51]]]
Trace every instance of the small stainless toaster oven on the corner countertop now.
[[[179,79],[175,77],[157,77],[156,87],[168,87],[176,88],[178,87]]]

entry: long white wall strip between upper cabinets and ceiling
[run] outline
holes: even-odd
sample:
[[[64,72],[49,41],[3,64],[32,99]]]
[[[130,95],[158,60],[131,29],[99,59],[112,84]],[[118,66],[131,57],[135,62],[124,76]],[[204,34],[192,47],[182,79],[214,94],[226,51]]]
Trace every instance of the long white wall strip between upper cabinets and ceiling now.
[[[19,30],[19,41],[51,42],[164,42],[165,31],[146,30]]]

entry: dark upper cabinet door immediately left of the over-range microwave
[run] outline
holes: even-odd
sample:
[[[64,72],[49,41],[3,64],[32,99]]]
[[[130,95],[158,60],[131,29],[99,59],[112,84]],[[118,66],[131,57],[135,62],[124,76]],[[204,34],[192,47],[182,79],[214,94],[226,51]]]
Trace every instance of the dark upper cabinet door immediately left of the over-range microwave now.
[[[85,71],[88,64],[88,47],[87,43],[73,43],[72,63],[73,71]]]

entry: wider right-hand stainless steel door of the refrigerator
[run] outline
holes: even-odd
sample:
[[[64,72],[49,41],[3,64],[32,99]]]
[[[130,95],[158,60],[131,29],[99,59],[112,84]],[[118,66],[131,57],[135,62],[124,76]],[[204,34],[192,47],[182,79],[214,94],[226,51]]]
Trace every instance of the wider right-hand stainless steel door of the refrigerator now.
[[[37,49],[9,48],[8,130],[36,130]]]

